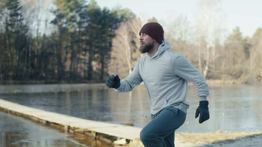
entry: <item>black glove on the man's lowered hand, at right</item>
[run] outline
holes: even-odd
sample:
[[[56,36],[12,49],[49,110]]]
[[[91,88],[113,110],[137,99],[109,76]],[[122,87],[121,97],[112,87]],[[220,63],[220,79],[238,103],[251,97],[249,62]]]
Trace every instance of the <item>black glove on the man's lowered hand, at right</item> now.
[[[199,113],[199,123],[202,123],[209,119],[208,101],[199,101],[199,106],[197,107],[195,118],[198,117]]]

